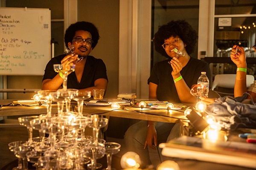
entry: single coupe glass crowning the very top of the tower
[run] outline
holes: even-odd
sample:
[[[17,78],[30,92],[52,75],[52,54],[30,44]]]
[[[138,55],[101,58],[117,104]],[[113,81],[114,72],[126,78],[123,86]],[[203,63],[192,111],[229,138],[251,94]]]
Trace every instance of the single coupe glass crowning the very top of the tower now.
[[[63,67],[61,64],[54,64],[53,65],[53,69],[55,72],[57,73],[61,73],[63,76],[62,76],[62,79],[63,79],[63,83],[62,83],[62,86],[63,86],[63,90],[66,91],[67,90],[67,76],[69,73],[75,71],[75,66],[76,65],[70,65],[69,68],[66,68],[65,70],[63,70]]]

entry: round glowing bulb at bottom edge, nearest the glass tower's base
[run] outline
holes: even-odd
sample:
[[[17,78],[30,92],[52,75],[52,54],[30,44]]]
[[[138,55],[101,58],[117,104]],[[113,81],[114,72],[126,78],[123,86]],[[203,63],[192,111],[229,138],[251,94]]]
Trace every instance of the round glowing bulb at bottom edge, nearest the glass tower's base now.
[[[140,156],[135,152],[127,152],[122,156],[120,163],[123,169],[139,168],[141,164]]]

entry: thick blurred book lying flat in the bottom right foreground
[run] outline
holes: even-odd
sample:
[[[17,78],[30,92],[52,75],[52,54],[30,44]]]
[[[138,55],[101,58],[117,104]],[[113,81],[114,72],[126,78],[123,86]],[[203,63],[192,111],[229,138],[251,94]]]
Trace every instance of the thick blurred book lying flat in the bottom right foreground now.
[[[256,168],[256,144],[252,143],[210,142],[198,137],[182,136],[161,143],[159,147],[163,148],[163,156]]]

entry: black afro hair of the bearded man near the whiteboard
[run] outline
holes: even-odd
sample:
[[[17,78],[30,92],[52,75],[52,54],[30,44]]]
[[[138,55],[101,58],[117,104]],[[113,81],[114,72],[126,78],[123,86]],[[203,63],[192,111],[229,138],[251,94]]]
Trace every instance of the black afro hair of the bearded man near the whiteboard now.
[[[83,30],[83,31],[88,31],[90,32],[90,34],[92,35],[92,40],[93,40],[93,44],[92,44],[92,48],[94,48],[99,40],[99,30],[98,28],[96,28],[96,26],[93,25],[93,23],[89,23],[89,22],[85,22],[85,21],[80,21],[80,22],[76,22],[71,24],[65,32],[65,36],[64,36],[64,41],[65,41],[65,45],[66,47],[68,47],[68,42],[72,43],[72,40],[75,36],[76,31],[78,30]]]

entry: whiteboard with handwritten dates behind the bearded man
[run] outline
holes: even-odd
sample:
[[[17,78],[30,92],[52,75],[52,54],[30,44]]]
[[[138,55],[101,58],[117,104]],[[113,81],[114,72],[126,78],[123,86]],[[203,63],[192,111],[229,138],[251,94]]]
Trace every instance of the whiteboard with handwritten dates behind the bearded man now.
[[[0,75],[44,75],[50,55],[48,8],[0,8]]]

